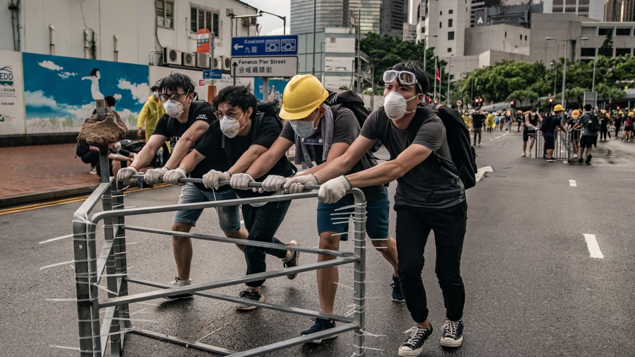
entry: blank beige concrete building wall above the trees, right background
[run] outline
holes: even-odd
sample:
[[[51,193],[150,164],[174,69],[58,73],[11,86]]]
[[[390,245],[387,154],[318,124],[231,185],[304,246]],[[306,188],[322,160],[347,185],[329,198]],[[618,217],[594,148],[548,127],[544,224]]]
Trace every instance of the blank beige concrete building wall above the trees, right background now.
[[[479,26],[465,29],[465,55],[487,50],[529,55],[531,30],[512,25]]]

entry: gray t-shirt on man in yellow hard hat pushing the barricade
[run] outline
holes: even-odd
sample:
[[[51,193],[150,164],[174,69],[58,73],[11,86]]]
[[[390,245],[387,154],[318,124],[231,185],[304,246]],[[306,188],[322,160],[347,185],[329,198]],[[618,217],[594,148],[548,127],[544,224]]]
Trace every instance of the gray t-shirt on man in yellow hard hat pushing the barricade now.
[[[322,118],[321,120],[324,120],[324,118]],[[359,131],[360,128],[358,120],[351,109],[342,107],[337,113],[333,113],[333,144],[337,144],[339,142],[344,144],[352,144],[352,142],[354,142],[355,139],[358,137]],[[295,143],[295,131],[293,131],[290,123],[284,124],[282,132],[280,133],[280,137]],[[314,150],[309,151],[309,157],[311,157],[311,161],[314,161],[314,163],[316,163],[317,165],[323,163],[323,140],[321,130],[318,128],[314,135],[302,140],[304,142],[304,145],[313,146]],[[364,154],[364,156],[362,156],[358,163],[353,166],[351,171],[346,173],[346,175],[360,172],[373,166],[377,166],[377,160],[373,157],[371,152],[368,151],[366,152],[366,154]],[[366,195],[366,199],[370,200],[377,197],[378,194],[380,194],[381,192],[384,192],[384,186],[375,185],[371,187],[363,187],[362,191]]]

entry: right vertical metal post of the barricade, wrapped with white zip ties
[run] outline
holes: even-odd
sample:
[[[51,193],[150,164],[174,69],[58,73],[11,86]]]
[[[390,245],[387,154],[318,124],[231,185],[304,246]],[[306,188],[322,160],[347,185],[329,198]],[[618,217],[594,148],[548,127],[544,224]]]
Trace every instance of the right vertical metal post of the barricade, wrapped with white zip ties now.
[[[364,328],[366,328],[366,199],[364,194],[356,190],[354,229],[355,229],[355,255],[359,261],[354,264],[354,318],[358,325],[358,330],[353,333],[353,354],[354,356],[365,356]]]

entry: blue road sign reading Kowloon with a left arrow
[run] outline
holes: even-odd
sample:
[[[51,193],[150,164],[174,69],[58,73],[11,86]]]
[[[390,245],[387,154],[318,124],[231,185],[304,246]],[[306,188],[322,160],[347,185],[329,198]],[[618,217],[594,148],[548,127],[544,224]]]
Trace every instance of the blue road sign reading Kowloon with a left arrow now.
[[[297,35],[232,37],[232,57],[291,56],[297,54]]]

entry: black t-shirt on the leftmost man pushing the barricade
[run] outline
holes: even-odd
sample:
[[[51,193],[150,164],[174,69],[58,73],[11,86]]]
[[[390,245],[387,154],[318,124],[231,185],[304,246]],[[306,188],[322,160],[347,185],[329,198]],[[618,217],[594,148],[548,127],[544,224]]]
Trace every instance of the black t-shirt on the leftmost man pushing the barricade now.
[[[168,114],[164,114],[159,121],[157,121],[157,126],[154,129],[152,135],[163,135],[168,138],[168,140],[174,139],[175,142],[178,141],[180,137],[183,136],[185,131],[187,131],[190,126],[192,126],[196,121],[202,120],[205,123],[208,123],[211,128],[211,124],[217,122],[216,116],[214,115],[214,109],[208,102],[203,102],[200,107],[196,110],[196,112],[190,112],[187,115],[187,123],[181,123],[177,120],[177,118],[172,118],[168,116]],[[209,131],[209,130],[208,130]],[[199,140],[200,141],[200,140]],[[193,144],[188,152],[192,151],[196,143]],[[189,173],[189,177],[192,179],[201,179],[203,175],[210,172],[210,170],[218,170],[225,172],[229,169],[229,162],[227,161],[227,157],[225,155],[210,154],[206,155],[206,158],[203,159],[196,168]],[[211,191],[211,189],[207,189],[203,184],[194,184],[196,187],[203,191]],[[219,191],[227,189],[227,187],[222,187]]]

